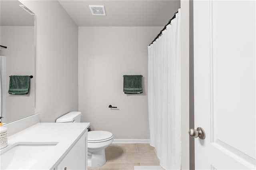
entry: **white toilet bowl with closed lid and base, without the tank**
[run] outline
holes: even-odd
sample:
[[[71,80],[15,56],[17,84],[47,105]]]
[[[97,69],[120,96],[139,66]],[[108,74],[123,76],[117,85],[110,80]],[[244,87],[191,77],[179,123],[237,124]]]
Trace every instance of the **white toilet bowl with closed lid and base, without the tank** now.
[[[111,132],[102,130],[88,132],[88,167],[96,168],[106,163],[105,148],[112,142]]]

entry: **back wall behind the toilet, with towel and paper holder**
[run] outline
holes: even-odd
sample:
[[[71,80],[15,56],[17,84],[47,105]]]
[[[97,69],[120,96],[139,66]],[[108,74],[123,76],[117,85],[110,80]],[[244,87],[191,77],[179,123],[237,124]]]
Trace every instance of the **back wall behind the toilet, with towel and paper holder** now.
[[[161,29],[79,27],[78,110],[92,130],[110,131],[118,139],[149,139],[147,46]],[[143,75],[143,93],[124,94],[123,75]]]

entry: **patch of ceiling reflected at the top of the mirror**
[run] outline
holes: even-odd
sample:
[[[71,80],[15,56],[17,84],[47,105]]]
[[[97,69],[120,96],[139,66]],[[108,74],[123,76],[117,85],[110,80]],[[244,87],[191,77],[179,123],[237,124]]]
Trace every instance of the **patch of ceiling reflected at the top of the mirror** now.
[[[35,16],[30,15],[18,0],[0,0],[1,26],[34,26]]]

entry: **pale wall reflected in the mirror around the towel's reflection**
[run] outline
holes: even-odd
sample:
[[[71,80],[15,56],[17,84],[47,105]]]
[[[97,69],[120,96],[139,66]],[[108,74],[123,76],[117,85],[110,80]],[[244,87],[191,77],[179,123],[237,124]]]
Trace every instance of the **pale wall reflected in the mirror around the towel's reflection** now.
[[[1,26],[1,55],[5,56],[5,89],[3,98],[3,121],[8,123],[33,115],[35,111],[35,81],[30,79],[29,93],[10,95],[10,75],[33,75],[35,73],[35,27],[34,26]]]

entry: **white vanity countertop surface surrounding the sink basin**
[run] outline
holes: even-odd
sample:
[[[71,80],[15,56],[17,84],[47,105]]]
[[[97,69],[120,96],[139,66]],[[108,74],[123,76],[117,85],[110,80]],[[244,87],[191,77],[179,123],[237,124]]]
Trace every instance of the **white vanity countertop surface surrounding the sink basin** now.
[[[89,125],[90,123],[37,123],[9,136],[8,146],[17,142],[58,142],[49,154],[32,168],[50,170],[61,162]]]

